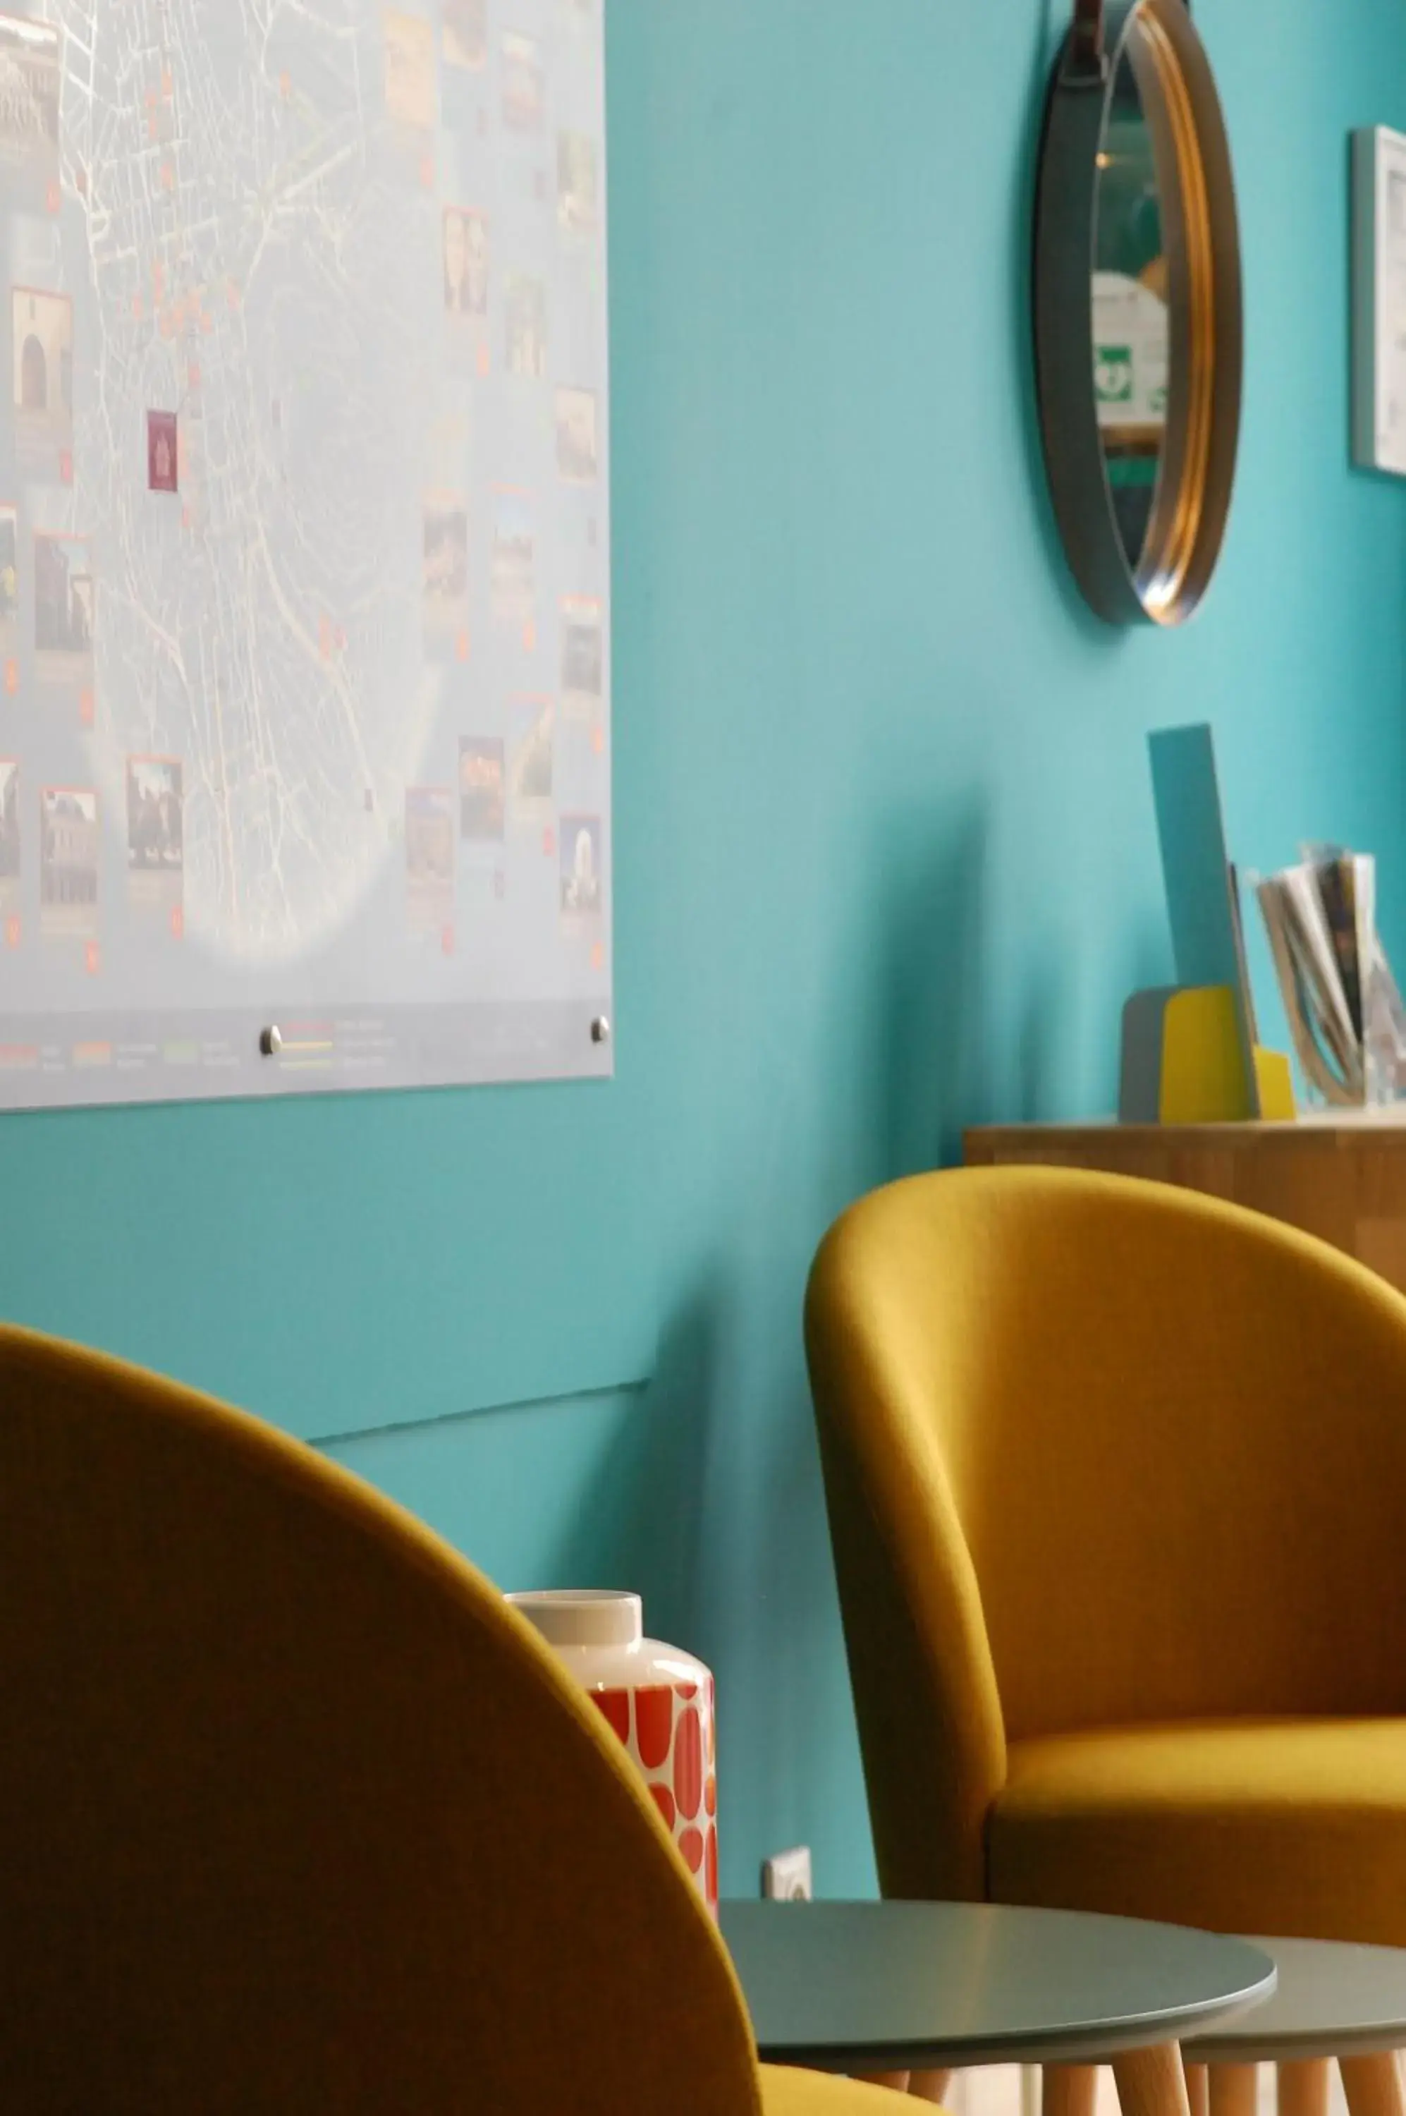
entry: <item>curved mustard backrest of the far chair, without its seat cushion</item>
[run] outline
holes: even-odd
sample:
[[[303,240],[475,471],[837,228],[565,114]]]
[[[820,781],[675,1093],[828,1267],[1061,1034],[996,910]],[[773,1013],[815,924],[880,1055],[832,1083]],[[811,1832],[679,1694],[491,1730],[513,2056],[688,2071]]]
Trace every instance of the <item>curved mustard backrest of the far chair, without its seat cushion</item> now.
[[[983,1892],[1006,1741],[1406,1710],[1406,1301],[1186,1191],[920,1176],[808,1350],[880,1873]]]

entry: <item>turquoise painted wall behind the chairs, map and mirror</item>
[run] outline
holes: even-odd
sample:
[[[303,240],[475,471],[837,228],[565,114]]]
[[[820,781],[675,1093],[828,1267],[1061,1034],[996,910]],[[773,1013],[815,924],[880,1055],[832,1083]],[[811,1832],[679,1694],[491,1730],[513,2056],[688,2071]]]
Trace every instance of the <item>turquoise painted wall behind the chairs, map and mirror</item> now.
[[[334,1452],[505,1585],[645,1587],[721,1676],[734,1892],[795,1841],[873,1883],[808,1261],[962,1124],[1110,1107],[1169,973],[1146,730],[1216,724],[1241,861],[1381,849],[1406,935],[1406,491],[1347,463],[1347,133],[1406,125],[1406,11],[1199,0],[1250,366],[1173,639],[1085,616],[1042,495],[1059,17],[609,0],[617,1083],[0,1126],[0,1308],[393,1428]],[[543,1386],[588,1394],[455,1416]]]

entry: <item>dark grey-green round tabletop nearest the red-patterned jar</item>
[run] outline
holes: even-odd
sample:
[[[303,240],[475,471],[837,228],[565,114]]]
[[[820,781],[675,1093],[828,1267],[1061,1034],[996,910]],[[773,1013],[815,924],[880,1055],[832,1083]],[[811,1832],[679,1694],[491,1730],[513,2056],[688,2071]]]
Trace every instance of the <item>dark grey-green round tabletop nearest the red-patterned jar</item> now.
[[[1083,1911],[725,1902],[761,2057],[816,2072],[1102,2063],[1256,2006],[1247,1940]]]

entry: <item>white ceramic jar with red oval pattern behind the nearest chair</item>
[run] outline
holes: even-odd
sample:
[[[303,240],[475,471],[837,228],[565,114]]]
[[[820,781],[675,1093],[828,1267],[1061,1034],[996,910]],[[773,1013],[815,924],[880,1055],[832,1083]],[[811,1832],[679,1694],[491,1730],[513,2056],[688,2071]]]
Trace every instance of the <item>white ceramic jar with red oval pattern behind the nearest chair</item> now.
[[[552,1591],[507,1600],[556,1650],[634,1758],[700,1896],[717,1915],[717,1720],[713,1676],[645,1638],[636,1593]]]

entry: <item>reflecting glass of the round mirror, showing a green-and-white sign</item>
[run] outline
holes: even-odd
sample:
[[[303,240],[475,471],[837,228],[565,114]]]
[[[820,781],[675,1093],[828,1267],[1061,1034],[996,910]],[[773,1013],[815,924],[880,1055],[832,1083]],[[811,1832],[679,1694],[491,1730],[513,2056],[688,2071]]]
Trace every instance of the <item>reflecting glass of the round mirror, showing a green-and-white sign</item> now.
[[[1127,563],[1140,567],[1167,434],[1167,256],[1152,131],[1118,59],[1097,159],[1093,387],[1104,468]]]

